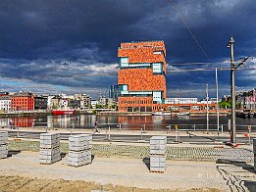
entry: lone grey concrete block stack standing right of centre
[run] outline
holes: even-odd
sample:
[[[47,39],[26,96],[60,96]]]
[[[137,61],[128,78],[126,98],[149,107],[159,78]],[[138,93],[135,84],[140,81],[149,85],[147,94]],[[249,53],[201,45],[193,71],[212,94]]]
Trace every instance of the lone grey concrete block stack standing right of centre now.
[[[150,171],[166,170],[166,152],[167,136],[152,136],[150,138]]]

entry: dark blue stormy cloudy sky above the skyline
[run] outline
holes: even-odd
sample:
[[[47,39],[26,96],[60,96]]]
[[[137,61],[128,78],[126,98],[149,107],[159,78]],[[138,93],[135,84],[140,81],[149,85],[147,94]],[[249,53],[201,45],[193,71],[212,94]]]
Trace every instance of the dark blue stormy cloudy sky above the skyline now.
[[[253,0],[139,0],[0,2],[1,76],[27,79],[33,87],[107,89],[117,81],[121,42],[165,40],[170,70],[213,68],[174,63],[229,60],[232,34],[235,59],[256,56],[256,6]],[[197,42],[196,42],[197,41]],[[63,65],[67,61],[69,65]],[[224,66],[229,67],[229,64]],[[222,66],[223,67],[223,66]],[[256,86],[254,73],[237,72],[237,88]],[[167,76],[169,93],[204,95],[214,88],[214,72],[177,72]],[[229,94],[229,72],[220,72],[222,94]],[[54,88],[53,88],[54,89]],[[51,89],[52,90],[52,89]],[[187,90],[190,90],[188,93]],[[74,92],[76,90],[74,89]],[[200,91],[199,91],[200,92]],[[214,90],[212,91],[214,96]]]

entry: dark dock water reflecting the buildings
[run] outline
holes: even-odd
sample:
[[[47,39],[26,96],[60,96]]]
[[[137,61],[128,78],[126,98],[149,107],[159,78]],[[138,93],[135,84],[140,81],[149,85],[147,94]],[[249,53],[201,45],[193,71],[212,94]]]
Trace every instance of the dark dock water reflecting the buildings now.
[[[209,117],[210,128],[216,128],[216,117]],[[224,129],[228,129],[229,117],[220,117],[220,124],[224,124]],[[56,127],[56,128],[93,128],[95,120],[98,120],[100,128],[111,126],[118,128],[120,124],[126,129],[165,130],[167,126],[179,124],[179,127],[205,127],[206,117],[168,117],[168,116],[96,116],[96,115],[72,115],[72,116],[44,116],[44,117],[25,117],[25,118],[4,118],[0,119],[0,126],[6,126],[10,122],[20,127]],[[200,125],[199,125],[200,124]],[[256,119],[236,119],[239,124],[255,125]],[[252,129],[255,129],[253,127]]]

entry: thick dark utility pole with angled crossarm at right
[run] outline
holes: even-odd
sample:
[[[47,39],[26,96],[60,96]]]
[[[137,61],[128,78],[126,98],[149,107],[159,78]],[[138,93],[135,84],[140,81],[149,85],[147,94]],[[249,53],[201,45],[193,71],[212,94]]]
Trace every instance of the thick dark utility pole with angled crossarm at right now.
[[[235,89],[234,89],[234,71],[239,68],[248,60],[249,57],[244,58],[239,64],[234,65],[233,63],[233,44],[234,39],[230,36],[230,42],[227,47],[230,48],[230,92],[231,92],[231,143],[236,143],[235,135]]]

